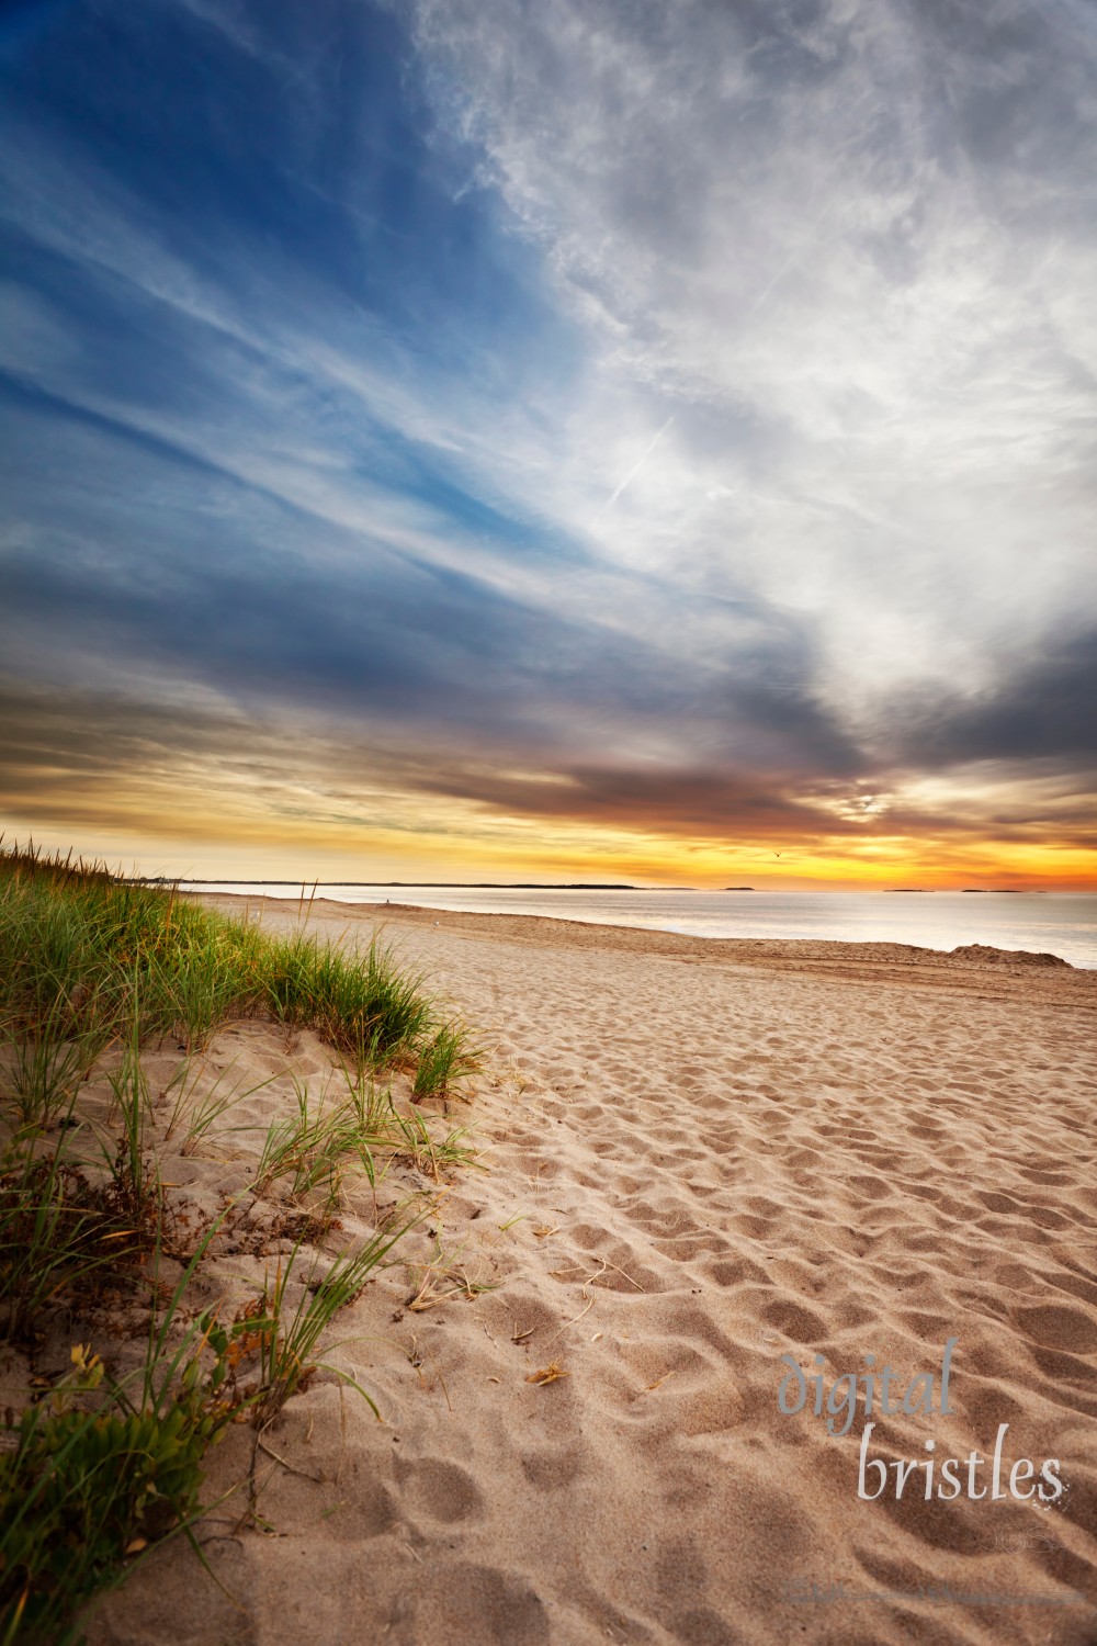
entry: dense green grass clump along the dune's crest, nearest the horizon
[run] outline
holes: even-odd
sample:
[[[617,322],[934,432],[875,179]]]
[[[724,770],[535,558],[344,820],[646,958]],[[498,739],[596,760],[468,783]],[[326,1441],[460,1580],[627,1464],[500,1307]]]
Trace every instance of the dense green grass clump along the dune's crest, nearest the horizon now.
[[[26,1119],[48,1123],[122,1035],[201,1050],[230,1017],[257,1016],[314,1029],[362,1065],[413,1068],[421,1093],[472,1067],[464,1030],[437,1021],[423,978],[377,940],[345,955],[102,864],[0,851],[0,1024],[20,1047]]]

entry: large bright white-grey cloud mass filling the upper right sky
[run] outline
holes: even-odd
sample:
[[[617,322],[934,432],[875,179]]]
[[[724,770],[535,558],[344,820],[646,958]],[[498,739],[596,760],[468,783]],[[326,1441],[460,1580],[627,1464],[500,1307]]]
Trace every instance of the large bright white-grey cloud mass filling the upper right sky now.
[[[1077,12],[416,15],[439,107],[589,328],[574,487],[679,408],[599,520],[607,555],[809,614],[860,713],[919,675],[985,686],[1072,621],[1097,267]]]

